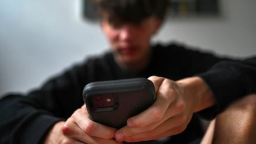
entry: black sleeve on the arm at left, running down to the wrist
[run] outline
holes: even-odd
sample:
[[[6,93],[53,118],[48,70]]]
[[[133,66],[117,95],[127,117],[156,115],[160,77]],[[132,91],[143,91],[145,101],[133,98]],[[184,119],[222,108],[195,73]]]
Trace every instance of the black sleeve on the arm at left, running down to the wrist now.
[[[90,68],[88,68],[90,65]],[[83,105],[83,87],[94,78],[87,62],[48,80],[28,94],[0,100],[0,144],[38,144],[50,128]]]

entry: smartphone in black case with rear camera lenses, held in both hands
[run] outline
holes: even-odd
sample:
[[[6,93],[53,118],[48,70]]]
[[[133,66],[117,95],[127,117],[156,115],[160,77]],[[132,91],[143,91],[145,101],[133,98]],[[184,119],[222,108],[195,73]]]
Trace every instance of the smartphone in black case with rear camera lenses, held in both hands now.
[[[117,129],[151,106],[155,99],[154,84],[146,78],[93,82],[83,89],[90,119]]]

